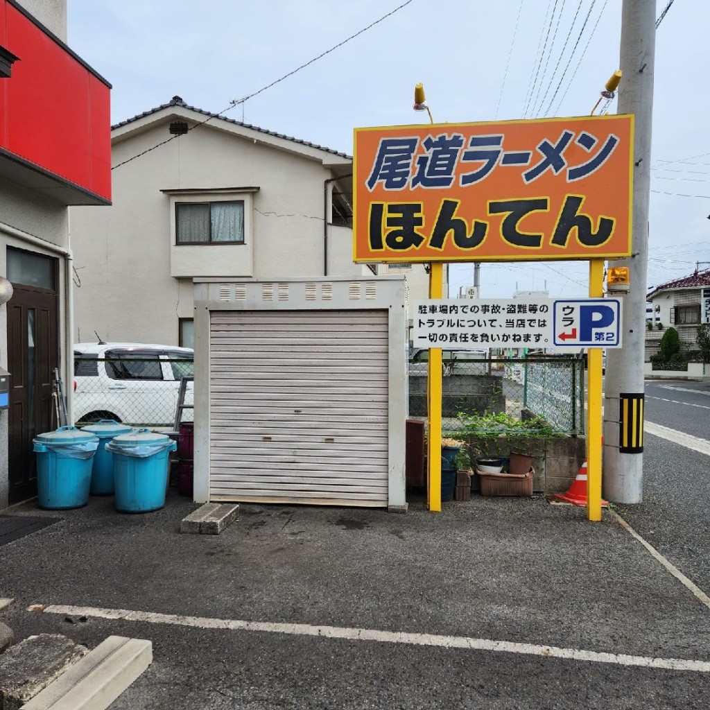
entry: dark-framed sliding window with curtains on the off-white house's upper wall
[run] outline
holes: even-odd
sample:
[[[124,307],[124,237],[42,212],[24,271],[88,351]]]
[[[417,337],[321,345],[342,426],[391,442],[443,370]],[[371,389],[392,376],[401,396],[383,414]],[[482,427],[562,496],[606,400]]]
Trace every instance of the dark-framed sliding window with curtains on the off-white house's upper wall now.
[[[244,202],[178,202],[178,244],[244,244]]]

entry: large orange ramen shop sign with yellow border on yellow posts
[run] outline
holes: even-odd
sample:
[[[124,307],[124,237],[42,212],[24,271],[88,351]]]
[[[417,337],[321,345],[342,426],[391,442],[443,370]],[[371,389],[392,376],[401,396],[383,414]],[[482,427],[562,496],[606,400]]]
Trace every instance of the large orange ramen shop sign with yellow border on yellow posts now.
[[[631,253],[633,116],[355,129],[354,261]]]

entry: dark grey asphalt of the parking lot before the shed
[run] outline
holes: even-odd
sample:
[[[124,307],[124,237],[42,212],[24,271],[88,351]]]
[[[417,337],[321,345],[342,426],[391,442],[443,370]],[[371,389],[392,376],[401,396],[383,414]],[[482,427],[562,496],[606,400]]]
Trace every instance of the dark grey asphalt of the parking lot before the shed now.
[[[641,529],[669,516],[655,542],[682,564],[692,547],[686,573],[707,592],[706,526],[674,548],[683,504],[655,507],[673,446],[650,442],[648,503],[622,513]],[[710,608],[609,512],[590,523],[542,497],[476,496],[440,514],[413,498],[405,515],[249,505],[222,535],[180,535],[194,508],[171,492],[145,515],[111,498],[13,509],[61,520],[0,547],[0,596],[16,598],[0,618],[19,638],[90,648],[151,639],[153,664],[112,710],[710,704]]]

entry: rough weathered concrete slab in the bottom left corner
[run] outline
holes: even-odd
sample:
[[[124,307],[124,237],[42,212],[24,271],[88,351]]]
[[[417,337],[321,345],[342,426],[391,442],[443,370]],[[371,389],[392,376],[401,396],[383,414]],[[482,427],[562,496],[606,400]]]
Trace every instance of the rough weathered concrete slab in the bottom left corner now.
[[[19,710],[88,649],[62,634],[29,636],[0,656],[0,707]]]

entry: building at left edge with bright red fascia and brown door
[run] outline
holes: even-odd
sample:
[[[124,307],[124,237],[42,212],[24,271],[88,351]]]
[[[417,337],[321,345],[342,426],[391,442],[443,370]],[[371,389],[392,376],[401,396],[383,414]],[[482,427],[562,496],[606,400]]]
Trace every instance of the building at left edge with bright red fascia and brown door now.
[[[0,509],[36,494],[32,439],[74,375],[67,208],[111,197],[111,87],[66,32],[65,0],[0,0]]]

